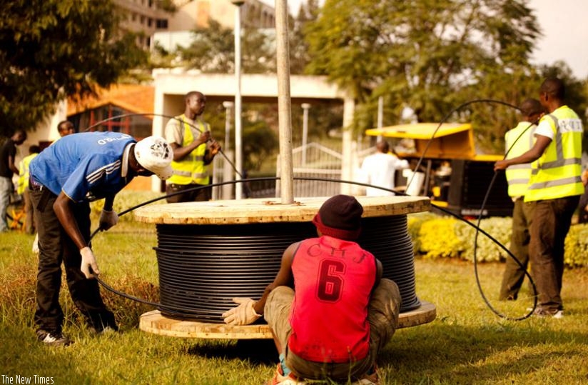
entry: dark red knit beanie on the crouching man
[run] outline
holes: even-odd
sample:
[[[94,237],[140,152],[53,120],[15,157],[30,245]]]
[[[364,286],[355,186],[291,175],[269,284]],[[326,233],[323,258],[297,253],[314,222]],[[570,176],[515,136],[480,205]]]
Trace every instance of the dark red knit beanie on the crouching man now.
[[[335,195],[320,206],[313,224],[323,235],[354,241],[360,236],[361,214],[363,207],[355,197]]]

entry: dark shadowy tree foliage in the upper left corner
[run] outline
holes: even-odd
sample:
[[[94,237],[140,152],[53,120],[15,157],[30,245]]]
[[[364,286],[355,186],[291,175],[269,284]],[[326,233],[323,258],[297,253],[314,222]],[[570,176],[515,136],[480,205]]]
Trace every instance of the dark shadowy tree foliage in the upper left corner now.
[[[146,62],[112,1],[2,1],[0,133],[34,129],[68,96],[108,87]]]

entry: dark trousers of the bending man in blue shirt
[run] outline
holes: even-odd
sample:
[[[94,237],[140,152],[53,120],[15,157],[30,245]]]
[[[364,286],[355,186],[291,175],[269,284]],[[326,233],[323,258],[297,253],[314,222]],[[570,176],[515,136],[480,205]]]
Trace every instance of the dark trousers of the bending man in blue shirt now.
[[[106,326],[116,328],[114,314],[106,309],[96,279],[86,279],[80,270],[81,255],[55,214],[57,196],[48,189],[31,190],[35,223],[39,233],[39,271],[36,285],[35,324],[44,331],[61,331],[64,312],[59,306],[61,263],[66,271],[71,299],[88,325],[101,331]],[[74,219],[83,238],[90,239],[90,205],[74,204]]]

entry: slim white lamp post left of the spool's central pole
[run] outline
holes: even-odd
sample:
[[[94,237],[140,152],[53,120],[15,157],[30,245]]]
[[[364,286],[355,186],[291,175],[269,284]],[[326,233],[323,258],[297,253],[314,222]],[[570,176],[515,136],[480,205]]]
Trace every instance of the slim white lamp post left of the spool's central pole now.
[[[243,144],[241,141],[241,13],[240,6],[245,0],[231,0],[235,5],[235,180],[240,181],[240,173],[243,172]],[[235,184],[235,199],[243,196],[243,184]]]

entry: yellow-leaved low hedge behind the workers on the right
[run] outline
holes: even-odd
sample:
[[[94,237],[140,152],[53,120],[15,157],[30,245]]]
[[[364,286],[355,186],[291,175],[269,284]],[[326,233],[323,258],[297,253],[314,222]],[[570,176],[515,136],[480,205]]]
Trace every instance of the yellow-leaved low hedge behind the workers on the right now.
[[[477,220],[470,223],[477,224]],[[510,246],[511,225],[511,218],[491,217],[480,221],[480,229],[507,249]],[[408,233],[415,255],[430,259],[474,259],[476,229],[464,221],[432,213],[410,214]],[[477,261],[505,261],[507,258],[509,256],[505,250],[478,232]],[[569,229],[565,240],[564,264],[568,267],[588,266],[588,224],[574,224]]]

